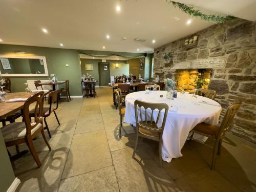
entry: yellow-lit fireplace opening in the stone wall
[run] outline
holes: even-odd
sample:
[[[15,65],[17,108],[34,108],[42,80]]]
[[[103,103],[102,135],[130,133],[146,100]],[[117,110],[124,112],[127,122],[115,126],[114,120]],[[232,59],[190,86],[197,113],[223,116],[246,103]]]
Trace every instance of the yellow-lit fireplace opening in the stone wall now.
[[[208,89],[211,77],[211,69],[190,69],[190,70],[176,70],[175,79],[177,81],[177,90],[189,93],[194,93],[195,89]],[[196,83],[197,81],[202,83]]]

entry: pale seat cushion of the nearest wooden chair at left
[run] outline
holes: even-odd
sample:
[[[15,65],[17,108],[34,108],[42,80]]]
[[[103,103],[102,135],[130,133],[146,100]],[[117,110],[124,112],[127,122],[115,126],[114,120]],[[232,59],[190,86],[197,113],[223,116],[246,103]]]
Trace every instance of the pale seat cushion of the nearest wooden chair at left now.
[[[31,135],[33,135],[40,127],[41,123],[38,123],[34,129],[31,130]],[[25,122],[14,122],[2,127],[2,134],[5,142],[15,141],[18,139],[24,139],[26,135],[26,125]]]

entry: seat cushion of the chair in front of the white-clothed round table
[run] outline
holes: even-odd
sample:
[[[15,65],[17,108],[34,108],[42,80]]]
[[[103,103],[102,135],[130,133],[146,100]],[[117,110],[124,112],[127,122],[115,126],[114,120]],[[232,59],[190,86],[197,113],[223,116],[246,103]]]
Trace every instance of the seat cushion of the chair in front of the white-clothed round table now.
[[[159,130],[156,126],[155,122],[145,121],[139,123],[139,132],[151,136],[151,137],[159,137],[161,130]]]

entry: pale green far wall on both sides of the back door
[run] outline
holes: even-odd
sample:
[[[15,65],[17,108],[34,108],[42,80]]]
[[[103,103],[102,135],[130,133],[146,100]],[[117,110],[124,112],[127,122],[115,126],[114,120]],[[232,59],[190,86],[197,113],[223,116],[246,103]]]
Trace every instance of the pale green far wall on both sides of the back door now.
[[[81,61],[81,71],[82,74],[89,73],[92,75],[97,81],[99,81],[99,70],[98,70],[98,63],[101,62],[101,59],[80,59]],[[106,60],[106,62],[110,63],[110,76],[111,75],[117,75],[120,76],[122,74],[129,75],[129,64],[126,63],[126,61],[122,60]],[[115,64],[118,63],[118,68],[115,67]],[[86,64],[92,64],[93,70],[86,70]],[[96,83],[96,85],[99,85],[99,82]]]

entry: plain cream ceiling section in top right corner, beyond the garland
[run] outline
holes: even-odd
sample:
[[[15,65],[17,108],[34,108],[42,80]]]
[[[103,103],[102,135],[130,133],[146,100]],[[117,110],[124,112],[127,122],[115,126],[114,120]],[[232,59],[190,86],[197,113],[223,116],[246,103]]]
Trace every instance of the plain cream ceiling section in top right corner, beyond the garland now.
[[[247,20],[256,20],[256,0],[177,0],[176,2]]]

